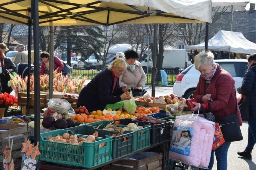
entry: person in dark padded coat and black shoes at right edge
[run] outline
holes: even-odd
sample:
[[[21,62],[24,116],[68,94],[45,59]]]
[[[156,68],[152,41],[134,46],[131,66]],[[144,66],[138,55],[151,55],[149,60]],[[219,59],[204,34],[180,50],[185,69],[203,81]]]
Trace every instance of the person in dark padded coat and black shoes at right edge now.
[[[249,96],[250,117],[248,120],[248,143],[244,151],[237,152],[239,156],[251,160],[251,150],[256,143],[256,53],[248,56],[249,69],[245,72],[242,85],[237,89],[243,100]]]

